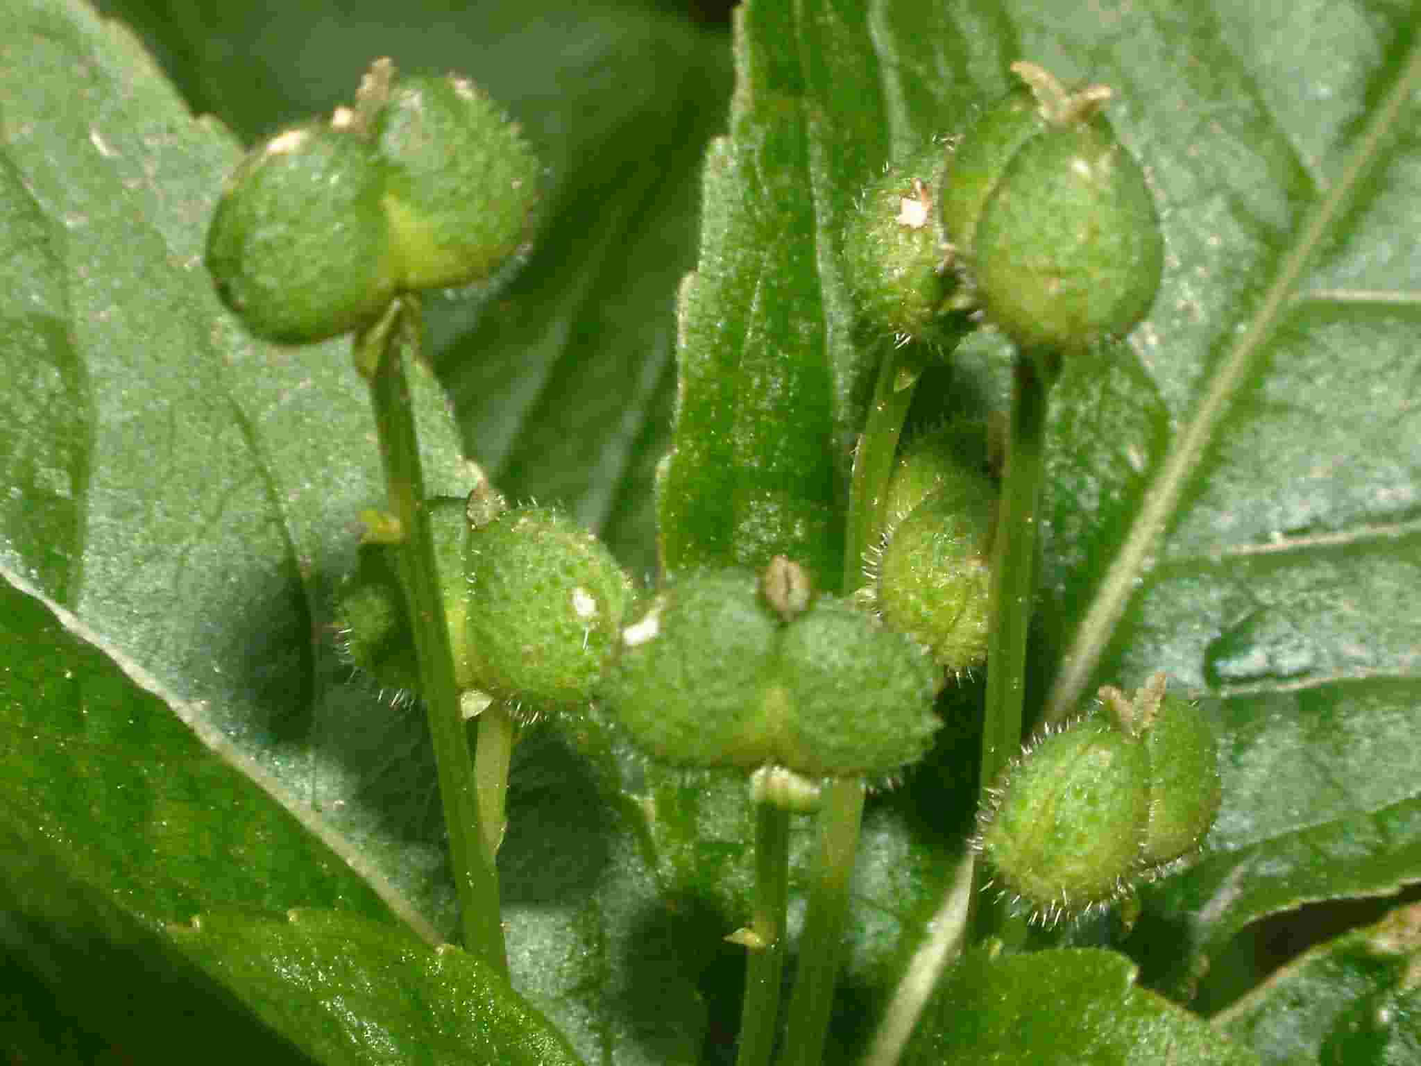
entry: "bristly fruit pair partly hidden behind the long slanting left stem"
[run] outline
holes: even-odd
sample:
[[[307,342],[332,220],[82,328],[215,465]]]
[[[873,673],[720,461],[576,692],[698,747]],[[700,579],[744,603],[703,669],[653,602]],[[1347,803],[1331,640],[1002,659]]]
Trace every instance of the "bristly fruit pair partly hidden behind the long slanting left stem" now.
[[[585,702],[617,644],[631,580],[601,542],[558,512],[483,507],[486,499],[428,503],[455,679],[530,716]],[[362,544],[337,613],[357,667],[381,685],[418,692],[401,550]]]

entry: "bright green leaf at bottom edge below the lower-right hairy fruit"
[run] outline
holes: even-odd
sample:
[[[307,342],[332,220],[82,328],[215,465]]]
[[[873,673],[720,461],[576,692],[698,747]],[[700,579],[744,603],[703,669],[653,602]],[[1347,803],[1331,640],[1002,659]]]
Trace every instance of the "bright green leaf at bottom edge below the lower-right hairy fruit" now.
[[[902,1062],[1245,1066],[1258,1059],[1188,1011],[1137,988],[1135,968],[1123,955],[976,948],[944,975]]]

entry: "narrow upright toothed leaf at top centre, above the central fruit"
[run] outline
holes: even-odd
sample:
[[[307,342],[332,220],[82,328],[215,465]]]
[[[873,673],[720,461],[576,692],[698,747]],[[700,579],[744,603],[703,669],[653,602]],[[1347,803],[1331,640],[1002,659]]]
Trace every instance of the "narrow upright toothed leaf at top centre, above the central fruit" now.
[[[874,371],[837,250],[884,152],[877,60],[857,4],[841,21],[784,4],[737,14],[730,135],[706,161],[701,266],[681,290],[662,563],[755,569],[784,554],[837,590]]]

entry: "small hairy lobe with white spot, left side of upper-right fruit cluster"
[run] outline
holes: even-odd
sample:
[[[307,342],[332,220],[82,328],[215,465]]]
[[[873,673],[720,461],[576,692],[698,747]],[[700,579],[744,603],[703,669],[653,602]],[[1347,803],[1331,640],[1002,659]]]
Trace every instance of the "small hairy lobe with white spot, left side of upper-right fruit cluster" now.
[[[844,233],[844,266],[860,313],[898,340],[936,340],[958,287],[936,208],[946,146],[929,144],[864,190]]]

